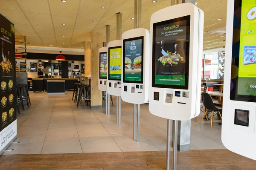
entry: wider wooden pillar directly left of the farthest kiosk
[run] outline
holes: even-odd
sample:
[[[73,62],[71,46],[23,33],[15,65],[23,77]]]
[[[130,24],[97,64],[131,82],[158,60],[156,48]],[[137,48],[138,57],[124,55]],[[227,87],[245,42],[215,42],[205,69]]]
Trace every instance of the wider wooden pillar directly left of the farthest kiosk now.
[[[102,108],[102,91],[99,83],[99,48],[102,47],[102,33],[91,32],[91,109]]]

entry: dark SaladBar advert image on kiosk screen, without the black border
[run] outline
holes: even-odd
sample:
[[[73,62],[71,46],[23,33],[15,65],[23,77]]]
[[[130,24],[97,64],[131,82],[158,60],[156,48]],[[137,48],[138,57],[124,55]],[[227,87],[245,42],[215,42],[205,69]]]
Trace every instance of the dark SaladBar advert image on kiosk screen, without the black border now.
[[[155,84],[185,86],[186,27],[186,20],[155,27]]]

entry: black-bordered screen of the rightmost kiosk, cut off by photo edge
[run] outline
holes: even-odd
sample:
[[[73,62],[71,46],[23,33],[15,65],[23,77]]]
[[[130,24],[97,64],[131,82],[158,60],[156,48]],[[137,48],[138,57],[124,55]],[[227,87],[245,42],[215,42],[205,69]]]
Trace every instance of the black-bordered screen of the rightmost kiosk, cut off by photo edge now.
[[[230,100],[256,102],[255,23],[255,0],[235,0]]]

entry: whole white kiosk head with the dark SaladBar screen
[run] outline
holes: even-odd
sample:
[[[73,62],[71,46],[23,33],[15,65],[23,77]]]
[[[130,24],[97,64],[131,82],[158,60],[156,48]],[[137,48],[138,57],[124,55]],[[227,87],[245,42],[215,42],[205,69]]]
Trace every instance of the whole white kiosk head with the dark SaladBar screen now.
[[[152,114],[183,121],[200,113],[203,28],[204,13],[192,3],[170,6],[151,16]]]

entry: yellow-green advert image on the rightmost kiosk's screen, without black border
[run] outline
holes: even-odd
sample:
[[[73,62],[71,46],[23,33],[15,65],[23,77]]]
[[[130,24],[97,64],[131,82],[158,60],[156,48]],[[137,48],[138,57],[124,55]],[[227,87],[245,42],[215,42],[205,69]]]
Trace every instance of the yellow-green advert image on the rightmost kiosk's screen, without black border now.
[[[241,13],[235,12],[235,17],[241,17],[237,95],[256,96],[256,3],[255,0],[240,3]]]

